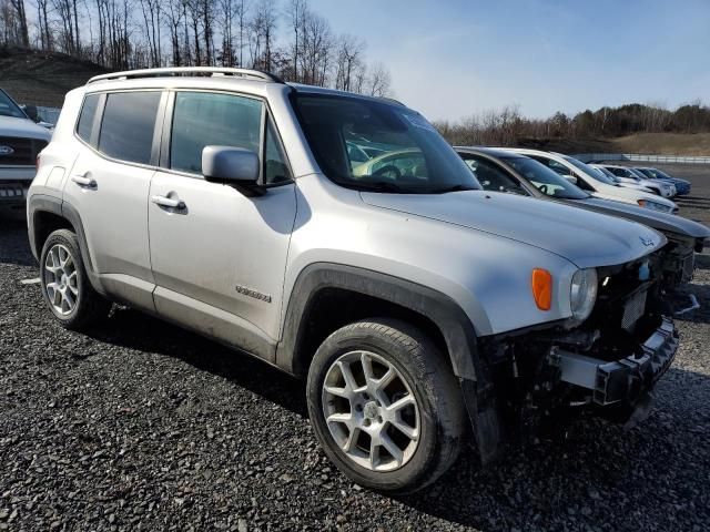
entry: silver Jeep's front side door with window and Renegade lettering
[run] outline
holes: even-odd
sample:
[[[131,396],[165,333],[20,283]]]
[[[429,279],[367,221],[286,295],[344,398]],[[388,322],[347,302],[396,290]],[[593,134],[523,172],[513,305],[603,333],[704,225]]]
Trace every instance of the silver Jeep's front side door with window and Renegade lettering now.
[[[247,95],[176,91],[163,139],[149,205],[158,311],[271,359],[296,196],[266,106]],[[265,193],[247,197],[206,182],[206,145],[258,153]]]

